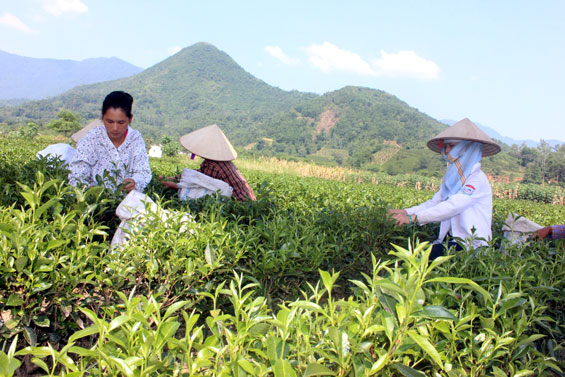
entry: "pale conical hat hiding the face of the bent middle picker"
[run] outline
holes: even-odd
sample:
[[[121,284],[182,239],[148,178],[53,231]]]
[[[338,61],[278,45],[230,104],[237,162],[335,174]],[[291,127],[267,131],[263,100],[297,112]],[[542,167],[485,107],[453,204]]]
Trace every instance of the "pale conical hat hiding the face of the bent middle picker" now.
[[[237,158],[237,152],[216,124],[181,136],[180,143],[189,152],[207,160],[231,161]]]

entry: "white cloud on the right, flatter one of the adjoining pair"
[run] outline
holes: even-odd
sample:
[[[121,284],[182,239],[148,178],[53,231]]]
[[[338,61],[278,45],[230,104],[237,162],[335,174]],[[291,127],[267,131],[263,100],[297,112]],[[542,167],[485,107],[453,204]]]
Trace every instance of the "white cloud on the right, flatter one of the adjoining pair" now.
[[[381,58],[374,60],[373,65],[379,76],[439,79],[439,66],[431,60],[418,56],[414,51],[389,54],[381,50]]]

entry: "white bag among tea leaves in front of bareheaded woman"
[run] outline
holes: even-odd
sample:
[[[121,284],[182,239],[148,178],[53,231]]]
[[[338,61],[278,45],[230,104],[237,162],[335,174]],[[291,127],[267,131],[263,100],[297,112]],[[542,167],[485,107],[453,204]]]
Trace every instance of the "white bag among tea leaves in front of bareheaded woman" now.
[[[149,214],[158,214],[161,221],[167,224],[171,212],[159,208],[157,203],[146,194],[137,190],[130,191],[118,208],[116,208],[116,215],[118,215],[122,222],[114,233],[110,244],[111,247],[126,244],[131,237],[135,236],[136,230],[145,226],[147,215]],[[192,218],[185,214],[180,221],[184,224],[192,221]],[[192,233],[192,230],[189,232]]]

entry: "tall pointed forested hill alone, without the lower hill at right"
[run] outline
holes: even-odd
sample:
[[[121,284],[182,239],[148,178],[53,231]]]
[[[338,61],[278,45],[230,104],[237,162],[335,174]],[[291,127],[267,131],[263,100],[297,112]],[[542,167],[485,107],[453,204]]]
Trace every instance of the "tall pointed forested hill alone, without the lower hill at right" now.
[[[147,137],[181,135],[214,122],[228,131],[246,128],[316,97],[272,87],[245,72],[226,53],[197,43],[135,76],[2,108],[0,122],[46,123],[67,109],[79,113],[86,123],[100,117],[102,100],[113,90],[133,95],[134,126]]]

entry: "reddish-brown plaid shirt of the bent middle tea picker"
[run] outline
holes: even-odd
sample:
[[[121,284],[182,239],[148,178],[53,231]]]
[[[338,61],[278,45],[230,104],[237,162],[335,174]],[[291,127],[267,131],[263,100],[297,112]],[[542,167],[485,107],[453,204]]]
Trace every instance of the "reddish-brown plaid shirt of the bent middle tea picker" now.
[[[257,200],[253,189],[231,161],[204,160],[198,171],[226,182],[233,188],[232,196],[237,200]]]

